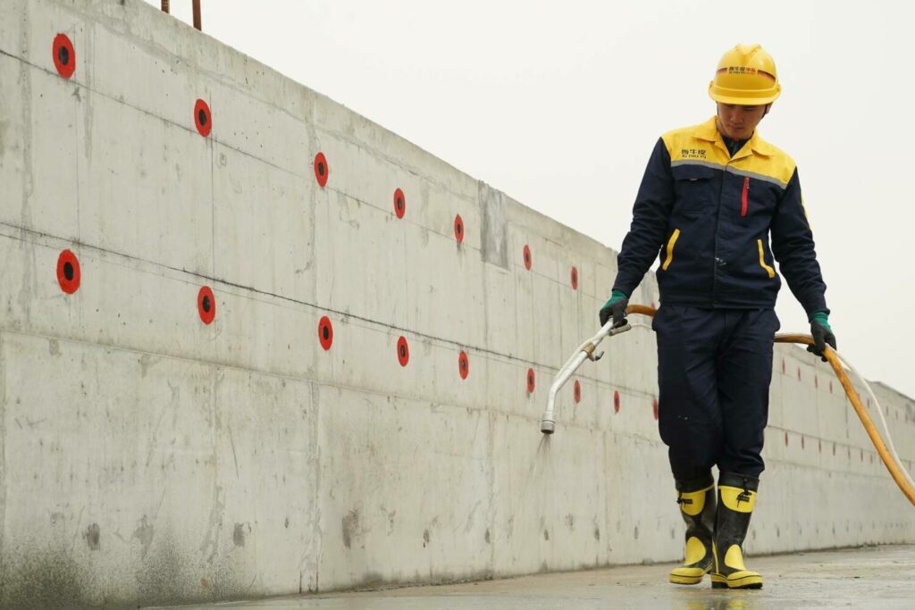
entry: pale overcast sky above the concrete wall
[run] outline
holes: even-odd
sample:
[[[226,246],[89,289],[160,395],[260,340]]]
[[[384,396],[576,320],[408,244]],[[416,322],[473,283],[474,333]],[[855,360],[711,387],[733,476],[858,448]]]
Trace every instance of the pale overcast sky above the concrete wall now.
[[[798,163],[839,349],[915,397],[913,3],[202,5],[210,36],[617,250],[658,136],[712,116],[719,57],[761,43],[782,95],[759,132]],[[787,286],[777,312],[809,332]]]

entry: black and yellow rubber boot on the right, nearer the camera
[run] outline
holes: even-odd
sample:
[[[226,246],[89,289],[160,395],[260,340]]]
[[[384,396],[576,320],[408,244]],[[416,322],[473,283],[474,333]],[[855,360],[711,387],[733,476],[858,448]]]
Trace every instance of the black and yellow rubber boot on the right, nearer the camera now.
[[[715,570],[712,586],[716,589],[761,589],[762,576],[744,565],[743,541],[749,519],[756,506],[759,479],[754,476],[722,473],[718,476],[718,513],[715,522]]]

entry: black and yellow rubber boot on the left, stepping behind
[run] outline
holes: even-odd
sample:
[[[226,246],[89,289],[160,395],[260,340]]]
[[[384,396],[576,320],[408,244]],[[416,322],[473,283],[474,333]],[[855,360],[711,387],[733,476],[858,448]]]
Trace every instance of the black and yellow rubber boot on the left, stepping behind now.
[[[694,481],[676,481],[677,504],[686,522],[684,564],[674,568],[674,584],[698,584],[712,569],[712,530],[715,527],[715,479],[711,474]]]

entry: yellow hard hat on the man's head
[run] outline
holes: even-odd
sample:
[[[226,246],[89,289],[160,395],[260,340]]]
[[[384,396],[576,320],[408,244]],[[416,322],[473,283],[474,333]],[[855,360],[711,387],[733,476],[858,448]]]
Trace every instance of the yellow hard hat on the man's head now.
[[[708,94],[721,103],[761,106],[779,97],[775,60],[759,45],[737,45],[718,61]]]

